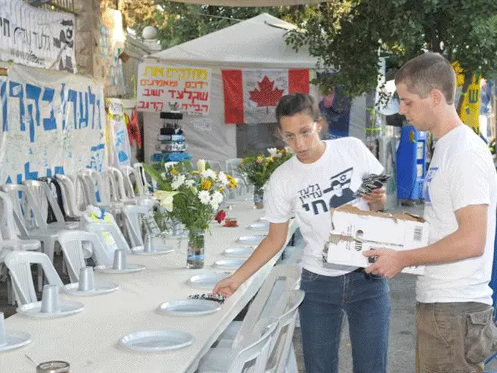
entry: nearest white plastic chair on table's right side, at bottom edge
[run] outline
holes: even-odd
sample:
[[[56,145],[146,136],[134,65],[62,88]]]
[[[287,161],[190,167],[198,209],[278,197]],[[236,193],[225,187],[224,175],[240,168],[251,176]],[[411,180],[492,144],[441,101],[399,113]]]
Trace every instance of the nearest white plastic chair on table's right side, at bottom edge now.
[[[252,326],[257,330],[259,338],[247,347],[237,350],[226,350],[224,354],[215,356],[206,354],[199,363],[198,373],[225,372],[225,373],[264,373],[268,361],[271,342],[277,327],[274,319],[261,319]],[[260,331],[263,331],[260,333]],[[261,335],[262,334],[262,335]],[[250,367],[250,370],[247,368]]]

